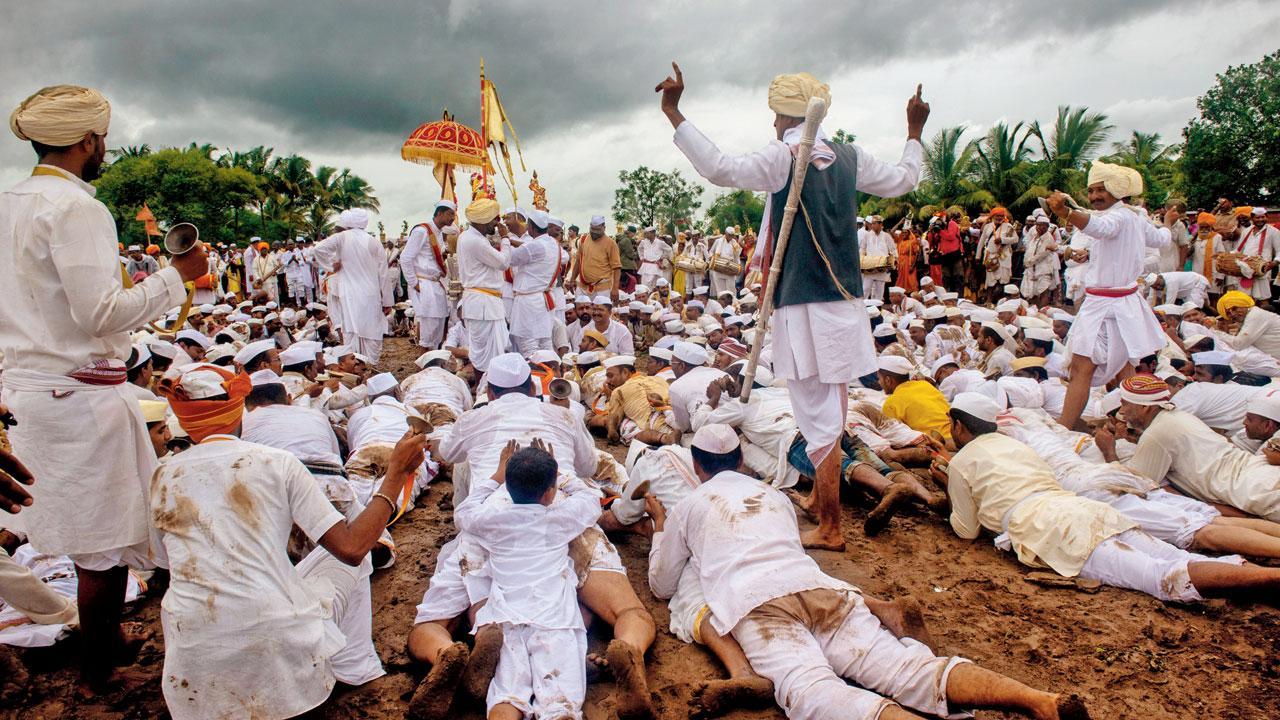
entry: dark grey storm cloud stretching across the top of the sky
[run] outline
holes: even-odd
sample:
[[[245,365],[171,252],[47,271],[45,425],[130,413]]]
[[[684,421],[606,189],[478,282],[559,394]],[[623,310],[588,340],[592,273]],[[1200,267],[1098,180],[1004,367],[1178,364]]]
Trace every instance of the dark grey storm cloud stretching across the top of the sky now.
[[[1050,31],[1100,37],[1179,4],[1197,3],[46,1],[6,13],[0,87],[12,106],[41,85],[96,85],[155,115],[154,143],[247,143],[237,128],[252,122],[349,149],[398,143],[443,108],[477,123],[483,55],[534,140],[654,102],[671,59],[700,86],[759,87]]]

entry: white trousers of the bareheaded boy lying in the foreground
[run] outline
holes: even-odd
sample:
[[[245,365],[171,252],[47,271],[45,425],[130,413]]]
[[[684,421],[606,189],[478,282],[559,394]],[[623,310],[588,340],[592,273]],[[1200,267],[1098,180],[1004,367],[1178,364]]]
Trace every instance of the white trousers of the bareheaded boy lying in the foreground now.
[[[526,717],[582,717],[586,630],[502,623],[502,652],[485,707],[509,703]]]

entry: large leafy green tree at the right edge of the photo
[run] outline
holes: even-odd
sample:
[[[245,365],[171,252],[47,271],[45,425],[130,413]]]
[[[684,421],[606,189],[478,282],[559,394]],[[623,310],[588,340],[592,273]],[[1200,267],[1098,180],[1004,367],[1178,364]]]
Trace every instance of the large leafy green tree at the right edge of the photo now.
[[[1252,65],[1229,67],[1196,106],[1199,115],[1183,129],[1190,205],[1280,192],[1280,50]]]

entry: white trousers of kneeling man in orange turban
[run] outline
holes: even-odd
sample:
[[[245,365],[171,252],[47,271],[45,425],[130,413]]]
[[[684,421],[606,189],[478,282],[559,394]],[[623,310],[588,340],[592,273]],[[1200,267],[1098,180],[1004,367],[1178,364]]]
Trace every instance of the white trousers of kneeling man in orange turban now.
[[[369,593],[374,569],[369,556],[353,568],[317,547],[297,569],[303,578],[324,579],[333,587],[333,623],[347,638],[347,644],[329,659],[333,676],[348,685],[362,685],[385,675],[374,650],[374,606]]]

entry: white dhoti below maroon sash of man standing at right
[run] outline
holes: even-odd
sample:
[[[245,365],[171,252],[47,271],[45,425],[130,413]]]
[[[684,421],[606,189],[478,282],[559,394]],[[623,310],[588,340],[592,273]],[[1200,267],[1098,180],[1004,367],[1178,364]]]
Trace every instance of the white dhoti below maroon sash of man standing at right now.
[[[1071,355],[1083,355],[1097,365],[1093,387],[1106,384],[1126,364],[1160,352],[1167,340],[1156,314],[1137,292],[1124,297],[1087,293],[1066,336]]]

